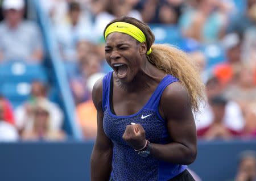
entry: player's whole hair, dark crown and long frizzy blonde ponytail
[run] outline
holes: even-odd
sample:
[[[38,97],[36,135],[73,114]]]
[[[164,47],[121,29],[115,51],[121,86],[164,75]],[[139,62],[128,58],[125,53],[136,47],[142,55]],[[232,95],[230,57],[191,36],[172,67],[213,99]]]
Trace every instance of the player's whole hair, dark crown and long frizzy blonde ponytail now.
[[[191,108],[194,112],[199,112],[200,103],[205,100],[205,86],[201,81],[199,68],[182,50],[168,44],[154,44],[155,36],[146,23],[138,19],[123,16],[114,19],[106,28],[114,22],[126,22],[138,27],[146,36],[147,50],[150,48],[152,52],[147,56],[148,61],[155,65],[156,68],[163,70],[167,74],[171,74],[178,78],[184,85],[191,99]]]

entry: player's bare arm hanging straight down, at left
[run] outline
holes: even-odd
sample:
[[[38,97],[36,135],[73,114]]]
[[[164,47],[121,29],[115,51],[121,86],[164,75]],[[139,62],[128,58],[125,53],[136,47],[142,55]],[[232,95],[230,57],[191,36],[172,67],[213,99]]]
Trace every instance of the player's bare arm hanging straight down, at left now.
[[[112,141],[103,130],[102,79],[93,87],[93,103],[97,109],[97,137],[90,157],[91,181],[109,180],[112,170]]]

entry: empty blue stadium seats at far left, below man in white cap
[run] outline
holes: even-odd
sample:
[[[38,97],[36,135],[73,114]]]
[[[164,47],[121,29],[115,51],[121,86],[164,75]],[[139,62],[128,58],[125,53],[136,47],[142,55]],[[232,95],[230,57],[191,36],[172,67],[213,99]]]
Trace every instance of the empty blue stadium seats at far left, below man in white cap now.
[[[0,93],[6,96],[14,107],[28,98],[30,83],[34,80],[47,82],[44,66],[21,61],[0,64]]]

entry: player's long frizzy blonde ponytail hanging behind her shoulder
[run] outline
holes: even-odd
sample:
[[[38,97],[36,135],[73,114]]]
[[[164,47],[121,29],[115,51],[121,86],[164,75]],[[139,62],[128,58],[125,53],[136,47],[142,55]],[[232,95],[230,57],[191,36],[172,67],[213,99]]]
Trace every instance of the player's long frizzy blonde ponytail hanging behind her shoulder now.
[[[152,52],[148,55],[148,60],[163,70],[178,78],[184,85],[191,99],[192,111],[199,112],[199,104],[204,100],[204,83],[198,68],[183,51],[167,44],[152,45]]]

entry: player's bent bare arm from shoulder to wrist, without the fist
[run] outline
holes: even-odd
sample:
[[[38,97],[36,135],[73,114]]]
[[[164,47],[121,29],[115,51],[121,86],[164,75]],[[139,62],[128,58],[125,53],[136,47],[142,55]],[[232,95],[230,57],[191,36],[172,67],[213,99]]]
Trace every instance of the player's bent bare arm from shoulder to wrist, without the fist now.
[[[151,144],[150,155],[163,161],[189,165],[197,155],[197,136],[191,101],[180,82],[167,86],[159,104],[160,115],[167,121],[172,142]]]

